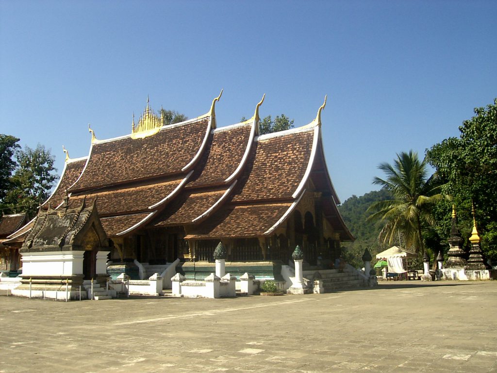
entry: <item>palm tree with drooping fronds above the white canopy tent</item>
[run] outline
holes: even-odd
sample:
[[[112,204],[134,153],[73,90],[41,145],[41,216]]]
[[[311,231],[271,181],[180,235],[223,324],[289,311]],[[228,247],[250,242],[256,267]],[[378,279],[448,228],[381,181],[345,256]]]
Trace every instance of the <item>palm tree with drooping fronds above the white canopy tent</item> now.
[[[431,205],[442,198],[436,193],[440,186],[432,188],[428,180],[427,162],[419,161],[417,153],[397,154],[393,166],[382,163],[378,166],[385,172],[386,179],[374,178],[373,184],[389,190],[393,199],[373,203],[368,211],[373,212],[368,219],[386,222],[380,238],[392,243],[402,234],[407,248],[424,253],[421,236],[423,224],[433,224]]]

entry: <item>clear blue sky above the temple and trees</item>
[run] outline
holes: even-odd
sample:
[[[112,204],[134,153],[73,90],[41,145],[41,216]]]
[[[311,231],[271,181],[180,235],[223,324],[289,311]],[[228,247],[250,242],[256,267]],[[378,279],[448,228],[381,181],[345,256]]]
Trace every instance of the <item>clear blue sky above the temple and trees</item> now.
[[[497,96],[497,1],[0,0],[0,133],[64,164],[130,133],[151,105],[218,126],[323,111],[341,201],[377,166],[426,148]]]

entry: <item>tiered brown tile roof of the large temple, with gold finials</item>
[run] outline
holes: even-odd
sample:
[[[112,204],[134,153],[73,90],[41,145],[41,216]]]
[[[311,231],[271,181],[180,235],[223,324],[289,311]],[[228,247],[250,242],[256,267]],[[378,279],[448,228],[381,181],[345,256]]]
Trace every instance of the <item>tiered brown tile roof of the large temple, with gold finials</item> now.
[[[259,237],[283,224],[306,191],[318,192],[329,225],[341,240],[353,239],[324,158],[324,104],[310,124],[259,136],[262,100],[251,119],[216,128],[220,96],[207,114],[181,123],[164,125],[147,100],[130,135],[97,140],[90,129],[88,156],[67,157],[42,207],[95,202],[109,237],[171,226],[182,226],[186,238]]]

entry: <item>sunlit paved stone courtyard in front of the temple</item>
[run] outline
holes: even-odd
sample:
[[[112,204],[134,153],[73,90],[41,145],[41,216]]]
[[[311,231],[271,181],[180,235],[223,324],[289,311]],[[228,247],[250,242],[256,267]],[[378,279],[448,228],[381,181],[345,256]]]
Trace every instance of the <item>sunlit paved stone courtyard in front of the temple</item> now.
[[[497,372],[497,281],[236,299],[0,294],[0,372]]]

